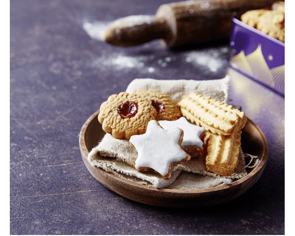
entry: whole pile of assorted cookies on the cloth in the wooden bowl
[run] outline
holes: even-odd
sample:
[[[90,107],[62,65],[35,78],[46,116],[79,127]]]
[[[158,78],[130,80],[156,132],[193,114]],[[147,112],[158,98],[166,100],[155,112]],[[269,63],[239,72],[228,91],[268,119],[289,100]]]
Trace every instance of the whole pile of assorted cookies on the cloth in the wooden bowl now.
[[[168,179],[179,164],[205,158],[206,169],[230,175],[238,164],[243,112],[209,96],[190,93],[177,103],[155,89],[113,94],[98,120],[114,138],[137,151],[133,167]]]

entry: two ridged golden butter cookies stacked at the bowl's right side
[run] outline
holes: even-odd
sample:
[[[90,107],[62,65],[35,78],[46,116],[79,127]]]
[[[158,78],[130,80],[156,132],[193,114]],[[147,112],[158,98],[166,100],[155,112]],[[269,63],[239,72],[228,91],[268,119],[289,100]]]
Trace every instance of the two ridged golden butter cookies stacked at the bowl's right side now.
[[[204,127],[210,134],[206,168],[219,175],[230,175],[238,165],[241,129],[247,118],[238,109],[212,99],[190,93],[179,102],[184,117]]]

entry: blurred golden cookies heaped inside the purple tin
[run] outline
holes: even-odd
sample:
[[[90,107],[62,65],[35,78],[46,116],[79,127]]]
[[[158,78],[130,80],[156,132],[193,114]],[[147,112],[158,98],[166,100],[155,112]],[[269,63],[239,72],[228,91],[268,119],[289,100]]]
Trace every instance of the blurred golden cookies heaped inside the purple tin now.
[[[285,2],[272,4],[271,9],[245,12],[241,21],[285,43]]]

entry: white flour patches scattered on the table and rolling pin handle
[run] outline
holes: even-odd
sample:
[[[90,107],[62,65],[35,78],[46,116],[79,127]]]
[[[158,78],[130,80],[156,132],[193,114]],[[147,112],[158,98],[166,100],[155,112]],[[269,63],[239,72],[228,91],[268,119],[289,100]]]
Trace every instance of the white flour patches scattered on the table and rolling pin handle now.
[[[124,18],[123,18],[124,19]],[[149,23],[152,16],[130,16],[126,18],[130,25]],[[84,21],[83,29],[88,35],[95,40],[103,41],[106,28],[111,22],[107,21]],[[226,56],[227,47],[209,48],[205,50],[189,51],[185,54],[185,62],[191,63],[204,72],[204,74],[218,73],[227,65]],[[141,72],[154,73],[157,68],[164,69],[174,64],[177,56],[163,56],[155,58],[154,55],[125,55],[123,52],[102,55],[95,59],[92,67],[101,68],[102,70],[127,70],[138,69]],[[172,64],[171,64],[172,63]],[[170,65],[171,64],[171,65]],[[148,66],[146,66],[148,65]],[[103,66],[103,67],[102,67]]]

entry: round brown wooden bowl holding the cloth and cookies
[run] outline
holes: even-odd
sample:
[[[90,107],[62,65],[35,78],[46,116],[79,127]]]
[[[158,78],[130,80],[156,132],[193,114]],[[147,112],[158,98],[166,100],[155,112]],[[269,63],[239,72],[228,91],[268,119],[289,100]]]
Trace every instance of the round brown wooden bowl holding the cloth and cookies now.
[[[139,203],[161,207],[204,207],[234,199],[251,188],[260,178],[268,159],[268,143],[260,128],[250,119],[242,129],[241,146],[244,153],[258,156],[259,165],[230,185],[201,190],[155,189],[122,179],[92,166],[88,153],[104,137],[98,122],[99,111],[87,119],[80,131],[80,152],[89,172],[105,187]]]

